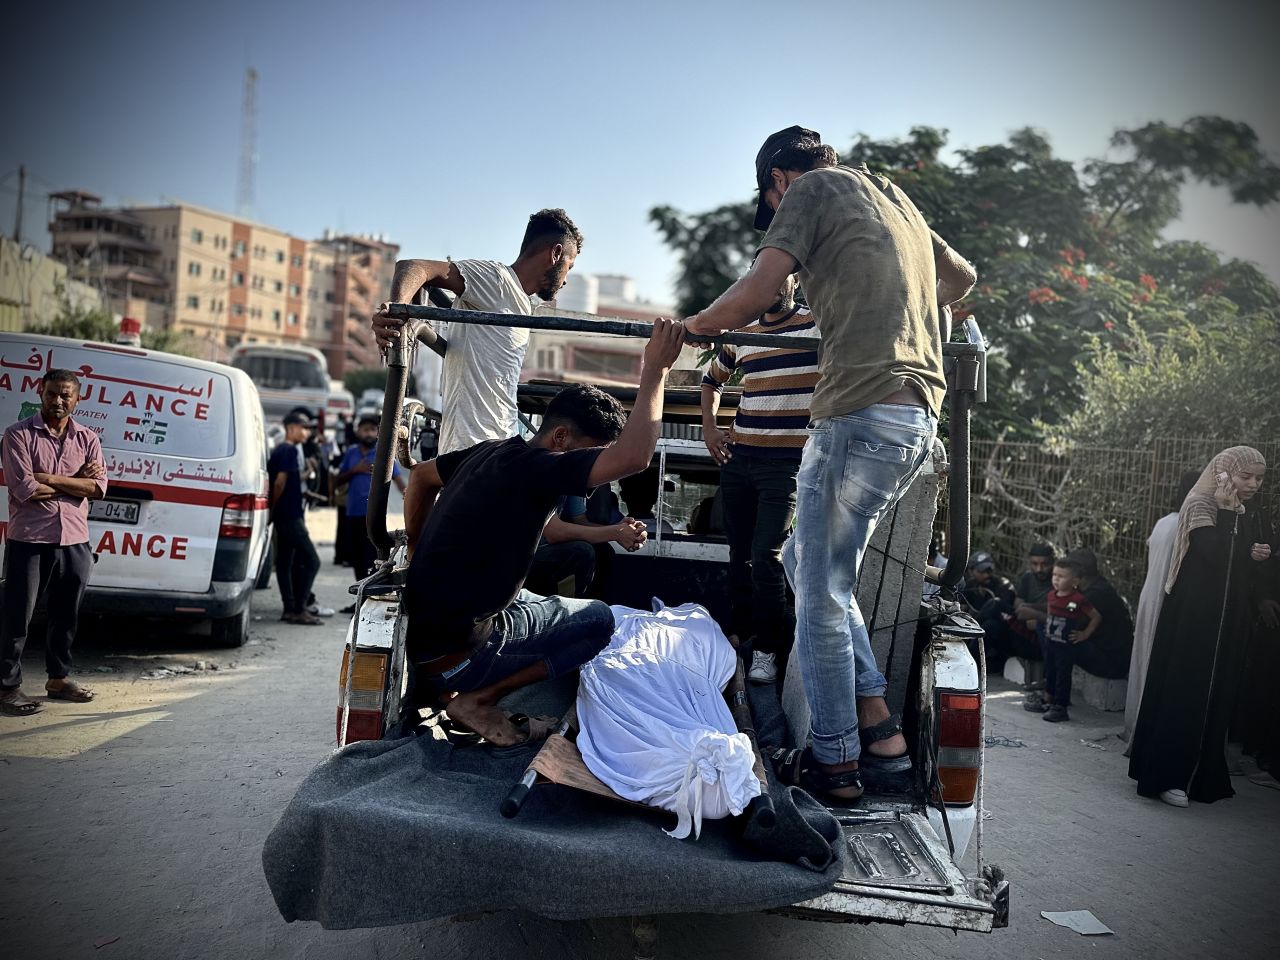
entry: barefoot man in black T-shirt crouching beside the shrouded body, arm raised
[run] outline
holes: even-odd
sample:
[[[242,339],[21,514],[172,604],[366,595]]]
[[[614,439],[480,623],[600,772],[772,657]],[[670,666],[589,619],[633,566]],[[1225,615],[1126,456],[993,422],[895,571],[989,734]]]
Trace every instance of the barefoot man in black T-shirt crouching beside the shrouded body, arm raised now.
[[[625,426],[616,399],[570,387],[548,404],[531,440],[485,440],[413,468],[404,611],[419,703],[447,699],[451,721],[497,746],[549,732],[534,721],[517,728],[498,701],[591,659],[609,641],[613,614],[598,600],[524,590],[534,552],[562,497],[649,466],[667,371],[682,343],[680,324],[654,324]]]

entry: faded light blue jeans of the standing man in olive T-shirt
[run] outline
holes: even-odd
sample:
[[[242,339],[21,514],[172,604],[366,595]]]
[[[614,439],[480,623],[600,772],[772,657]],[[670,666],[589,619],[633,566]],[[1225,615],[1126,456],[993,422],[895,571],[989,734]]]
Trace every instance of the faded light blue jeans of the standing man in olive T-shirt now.
[[[920,472],[936,431],[928,410],[897,403],[809,425],[782,562],[796,595],[796,652],[819,763],[858,759],[856,698],[884,695],[858,576],[876,525]]]

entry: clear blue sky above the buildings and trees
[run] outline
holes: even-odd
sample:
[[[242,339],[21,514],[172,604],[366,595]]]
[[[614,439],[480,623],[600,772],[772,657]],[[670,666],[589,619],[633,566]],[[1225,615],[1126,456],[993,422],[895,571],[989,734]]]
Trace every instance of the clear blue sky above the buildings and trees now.
[[[792,123],[950,132],[1036,127],[1075,161],[1117,127],[1220,114],[1280,159],[1276,5],[1239,0],[892,5],[700,3],[24,4],[0,38],[0,229],[28,169],[45,195],[236,209],[244,70],[257,84],[253,219],[300,237],[383,233],[402,256],[515,259],[530,212],[585,234],[576,270],[675,301],[650,207],[745,200],[763,138]],[[1170,238],[1280,280],[1280,209],[1185,191]]]

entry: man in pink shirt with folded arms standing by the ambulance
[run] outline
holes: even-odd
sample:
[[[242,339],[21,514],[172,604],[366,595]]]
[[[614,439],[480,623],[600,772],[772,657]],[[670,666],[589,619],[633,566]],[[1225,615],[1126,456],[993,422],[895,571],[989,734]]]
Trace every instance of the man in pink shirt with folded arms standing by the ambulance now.
[[[4,431],[0,461],[9,489],[9,534],[0,599],[0,713],[26,717],[41,709],[22,692],[22,650],[36,600],[47,594],[45,666],[51,700],[87,703],[88,690],[68,675],[81,598],[93,568],[88,502],[106,495],[102,444],[72,420],[81,384],[69,370],[50,370],[40,412]]]

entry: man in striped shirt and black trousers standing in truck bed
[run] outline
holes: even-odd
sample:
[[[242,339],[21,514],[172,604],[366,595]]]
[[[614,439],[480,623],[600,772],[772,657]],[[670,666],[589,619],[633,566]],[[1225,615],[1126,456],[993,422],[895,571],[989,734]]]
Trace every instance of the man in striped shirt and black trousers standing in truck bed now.
[[[795,636],[787,604],[782,545],[795,518],[796,472],[808,436],[809,401],[818,383],[818,330],[795,302],[787,276],[777,301],[745,333],[813,339],[813,349],[721,348],[703,378],[703,436],[721,465],[721,497],[728,534],[732,632],[754,632],[751,669],[756,684],[777,680]],[[716,422],[721,388],[742,371],[742,398],[730,429]]]

